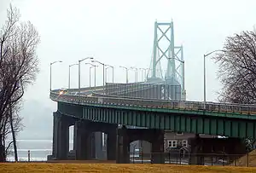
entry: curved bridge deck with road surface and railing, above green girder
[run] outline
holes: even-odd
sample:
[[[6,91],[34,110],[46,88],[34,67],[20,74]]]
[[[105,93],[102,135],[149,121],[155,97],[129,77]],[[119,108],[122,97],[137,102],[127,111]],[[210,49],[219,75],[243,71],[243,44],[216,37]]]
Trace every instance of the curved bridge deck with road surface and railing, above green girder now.
[[[73,92],[79,92],[79,90],[68,91],[67,93],[60,95],[60,91],[60,89],[51,91],[50,98],[53,101],[101,107],[129,107],[129,109],[156,112],[193,113],[230,118],[256,119],[256,107],[250,105],[207,102],[206,107],[204,107],[204,103],[199,101],[167,101],[104,95],[102,86],[97,87],[96,90],[94,88],[81,89],[80,94],[90,93],[90,95],[73,94]],[[94,91],[97,91],[98,93],[96,92],[96,95],[92,95]]]

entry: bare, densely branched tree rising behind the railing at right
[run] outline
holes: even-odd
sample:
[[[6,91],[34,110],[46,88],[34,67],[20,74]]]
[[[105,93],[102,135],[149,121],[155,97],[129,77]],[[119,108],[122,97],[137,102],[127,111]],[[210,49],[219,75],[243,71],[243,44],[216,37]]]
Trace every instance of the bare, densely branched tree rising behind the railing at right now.
[[[219,101],[256,103],[256,32],[227,37],[223,52],[213,57],[219,64],[223,88]]]

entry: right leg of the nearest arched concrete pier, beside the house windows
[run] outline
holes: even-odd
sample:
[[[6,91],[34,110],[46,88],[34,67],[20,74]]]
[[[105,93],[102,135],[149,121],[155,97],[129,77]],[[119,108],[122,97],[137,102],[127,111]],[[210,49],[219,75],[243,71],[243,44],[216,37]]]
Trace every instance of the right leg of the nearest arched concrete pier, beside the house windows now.
[[[155,130],[152,134],[152,164],[165,164],[164,137],[164,130]]]

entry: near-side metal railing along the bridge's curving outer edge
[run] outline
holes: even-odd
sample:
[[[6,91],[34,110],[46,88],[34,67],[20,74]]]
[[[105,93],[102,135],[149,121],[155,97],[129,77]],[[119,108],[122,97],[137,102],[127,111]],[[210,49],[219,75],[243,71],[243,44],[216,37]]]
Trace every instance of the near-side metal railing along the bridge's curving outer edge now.
[[[107,104],[116,106],[129,106],[129,107],[148,107],[148,108],[166,108],[178,110],[194,110],[194,111],[207,111],[207,112],[232,112],[238,114],[252,114],[256,115],[256,106],[239,105],[228,103],[215,103],[207,102],[206,109],[204,103],[201,101],[166,101],[166,100],[149,100],[149,99],[131,99],[131,98],[115,98],[115,97],[96,97],[96,96],[79,96],[64,94],[52,91],[50,98],[53,101],[64,101],[75,104]]]

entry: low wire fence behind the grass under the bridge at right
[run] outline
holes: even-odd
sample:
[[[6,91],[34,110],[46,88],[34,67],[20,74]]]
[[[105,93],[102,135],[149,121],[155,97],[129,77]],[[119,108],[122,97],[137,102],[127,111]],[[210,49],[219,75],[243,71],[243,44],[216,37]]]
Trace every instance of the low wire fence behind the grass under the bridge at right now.
[[[131,164],[150,164],[154,155],[165,160],[165,164],[201,164],[219,166],[256,166],[255,154],[226,153],[130,153]]]

